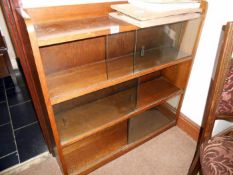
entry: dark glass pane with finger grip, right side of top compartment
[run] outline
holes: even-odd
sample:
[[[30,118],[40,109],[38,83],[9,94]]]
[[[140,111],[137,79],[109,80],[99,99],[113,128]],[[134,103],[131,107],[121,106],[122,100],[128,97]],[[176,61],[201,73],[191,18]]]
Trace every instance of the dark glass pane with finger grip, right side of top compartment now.
[[[184,22],[137,31],[135,73],[189,56],[180,49]]]

